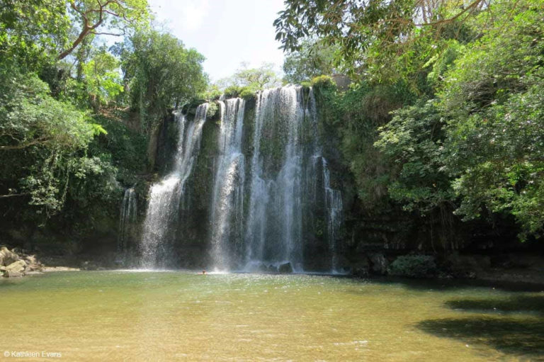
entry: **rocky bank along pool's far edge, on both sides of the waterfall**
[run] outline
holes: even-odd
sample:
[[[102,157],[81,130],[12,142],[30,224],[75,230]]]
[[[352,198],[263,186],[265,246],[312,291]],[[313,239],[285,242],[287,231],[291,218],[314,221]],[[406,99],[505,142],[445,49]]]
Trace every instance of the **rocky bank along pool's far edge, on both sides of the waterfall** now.
[[[398,259],[398,258],[397,258]],[[385,257],[373,257],[362,261],[355,268],[342,274],[348,278],[374,279],[395,277],[391,264]],[[435,268],[428,274],[412,278],[429,281],[470,281],[475,283],[518,283],[531,289],[544,288],[544,259],[535,255],[482,256],[452,253],[446,258],[428,259]],[[378,265],[379,264],[379,265]],[[38,258],[24,250],[0,248],[0,276],[22,277],[57,271],[115,271],[130,268],[119,261],[114,253],[78,255],[40,255]],[[413,266],[412,269],[413,271]],[[428,269],[425,269],[428,270]],[[257,273],[276,274],[271,271]],[[284,273],[288,273],[285,272]],[[327,273],[325,273],[327,274]],[[403,275],[398,275],[403,277]],[[406,275],[404,275],[405,277]]]

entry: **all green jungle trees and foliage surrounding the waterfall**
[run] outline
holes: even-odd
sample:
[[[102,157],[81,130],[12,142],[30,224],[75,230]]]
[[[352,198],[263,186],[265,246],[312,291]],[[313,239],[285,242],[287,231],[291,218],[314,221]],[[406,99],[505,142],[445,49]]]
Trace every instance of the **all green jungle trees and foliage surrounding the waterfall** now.
[[[5,222],[112,225],[123,188],[152,174],[173,108],[305,84],[355,182],[353,217],[401,210],[441,225],[444,242],[469,220],[543,233],[542,0],[286,0],[283,79],[242,64],[217,84],[203,55],[152,23],[146,0],[3,2]]]

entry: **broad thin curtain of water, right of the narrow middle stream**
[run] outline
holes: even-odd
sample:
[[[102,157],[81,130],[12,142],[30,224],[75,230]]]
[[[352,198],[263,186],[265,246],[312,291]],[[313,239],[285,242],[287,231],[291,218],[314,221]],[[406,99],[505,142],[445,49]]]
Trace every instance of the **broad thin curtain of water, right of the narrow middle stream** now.
[[[246,262],[302,270],[302,87],[258,96],[246,222]]]

